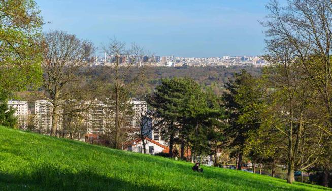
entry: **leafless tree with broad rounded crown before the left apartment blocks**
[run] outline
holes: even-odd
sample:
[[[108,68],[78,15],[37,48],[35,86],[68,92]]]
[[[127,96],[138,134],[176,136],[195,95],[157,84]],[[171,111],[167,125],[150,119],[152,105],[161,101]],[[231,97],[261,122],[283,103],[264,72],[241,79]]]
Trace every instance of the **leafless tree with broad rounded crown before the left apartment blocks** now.
[[[92,43],[78,39],[63,31],[51,31],[44,35],[43,63],[44,82],[42,89],[52,103],[51,135],[56,136],[61,104],[64,100],[73,100],[75,82],[88,72],[88,55],[94,48]]]

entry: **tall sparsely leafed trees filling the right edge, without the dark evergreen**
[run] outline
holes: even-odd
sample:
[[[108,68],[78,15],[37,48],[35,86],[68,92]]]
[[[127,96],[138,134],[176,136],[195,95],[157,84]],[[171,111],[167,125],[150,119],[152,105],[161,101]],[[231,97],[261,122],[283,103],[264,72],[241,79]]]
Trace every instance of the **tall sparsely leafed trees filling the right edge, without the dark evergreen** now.
[[[284,111],[270,116],[285,138],[291,183],[294,169],[306,169],[319,157],[330,158],[324,154],[332,135],[332,3],[293,0],[281,7],[272,1],[267,8],[270,14],[262,25],[267,28],[267,59],[274,66],[267,80],[277,89],[270,100]]]

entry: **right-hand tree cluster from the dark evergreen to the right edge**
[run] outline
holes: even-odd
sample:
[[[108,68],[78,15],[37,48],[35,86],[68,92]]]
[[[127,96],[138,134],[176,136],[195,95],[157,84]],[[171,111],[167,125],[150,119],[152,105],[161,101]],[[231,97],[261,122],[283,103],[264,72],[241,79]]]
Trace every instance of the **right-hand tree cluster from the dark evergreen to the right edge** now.
[[[224,95],[230,126],[225,133],[252,161],[294,170],[321,169],[328,185],[331,158],[331,13],[330,1],[271,1],[261,24],[267,28],[261,78],[242,72]],[[286,157],[285,157],[286,156]],[[319,168],[317,168],[319,167]],[[238,167],[240,169],[240,167]],[[273,169],[273,168],[272,168]],[[272,174],[273,174],[272,170]]]

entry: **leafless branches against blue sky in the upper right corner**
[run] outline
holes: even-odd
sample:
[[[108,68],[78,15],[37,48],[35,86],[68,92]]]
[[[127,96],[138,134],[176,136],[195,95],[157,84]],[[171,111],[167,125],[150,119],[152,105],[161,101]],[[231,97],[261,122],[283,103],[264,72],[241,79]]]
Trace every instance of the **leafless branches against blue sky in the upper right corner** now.
[[[317,96],[325,105],[330,121],[327,126],[315,125],[332,135],[332,2],[330,0],[290,0],[281,7],[271,1],[267,9],[270,14],[261,22],[267,28],[269,52],[286,42],[292,48],[293,58],[302,63],[310,84],[318,89]]]

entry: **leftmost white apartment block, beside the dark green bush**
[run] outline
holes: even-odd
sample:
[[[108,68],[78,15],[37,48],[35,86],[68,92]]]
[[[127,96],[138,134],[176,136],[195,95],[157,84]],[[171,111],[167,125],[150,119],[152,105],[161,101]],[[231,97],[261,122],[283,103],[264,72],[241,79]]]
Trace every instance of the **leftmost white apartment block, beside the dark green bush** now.
[[[8,101],[8,107],[15,109],[14,116],[17,117],[17,122],[20,127],[25,127],[27,125],[28,118],[28,102],[19,100]]]

